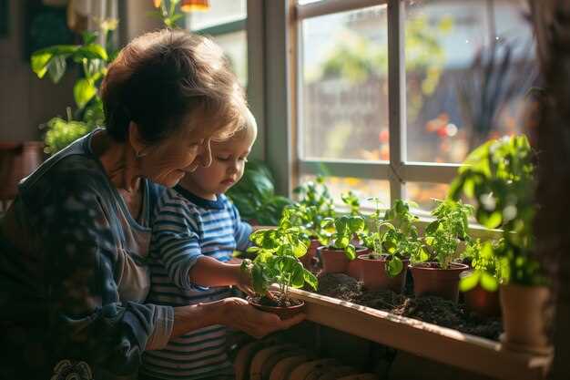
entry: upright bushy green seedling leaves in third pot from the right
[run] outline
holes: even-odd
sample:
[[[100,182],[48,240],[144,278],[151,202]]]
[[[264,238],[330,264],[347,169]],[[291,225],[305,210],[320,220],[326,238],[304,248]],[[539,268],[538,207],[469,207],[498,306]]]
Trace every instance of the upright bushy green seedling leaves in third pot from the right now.
[[[436,220],[425,229],[424,248],[428,255],[427,257],[422,255],[413,261],[436,261],[442,269],[447,269],[459,256],[457,252],[459,241],[471,241],[468,219],[473,215],[473,206],[463,204],[461,200],[437,200],[437,202],[437,207],[432,211]]]

